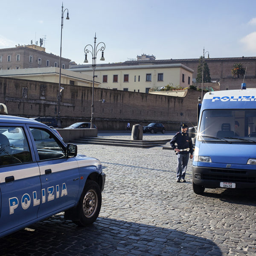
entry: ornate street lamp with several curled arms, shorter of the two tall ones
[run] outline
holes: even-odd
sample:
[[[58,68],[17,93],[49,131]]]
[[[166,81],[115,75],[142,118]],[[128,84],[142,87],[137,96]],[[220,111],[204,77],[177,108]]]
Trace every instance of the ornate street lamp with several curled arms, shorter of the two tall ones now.
[[[99,45],[102,45],[102,46],[99,46]],[[91,51],[87,49],[87,47],[91,47]],[[98,47],[100,47],[98,49]],[[94,97],[94,78],[95,78],[95,75],[94,75],[94,72],[95,72],[95,67],[96,67],[96,56],[97,56],[97,53],[99,51],[102,52],[102,56],[100,58],[100,61],[105,61],[105,58],[104,58],[104,50],[105,50],[105,44],[103,42],[100,42],[99,44],[96,45],[96,33],[95,33],[95,37],[94,37],[94,47],[91,45],[91,44],[87,44],[86,47],[84,47],[84,53],[85,53],[85,58],[84,58],[84,63],[88,63],[88,60],[87,60],[87,53],[90,52],[91,55],[92,55],[92,67],[93,67],[93,88],[92,88],[92,109],[91,109],[91,119],[90,119],[90,128],[92,129],[93,128],[93,111],[94,111],[94,105],[93,105],[93,97]]]

